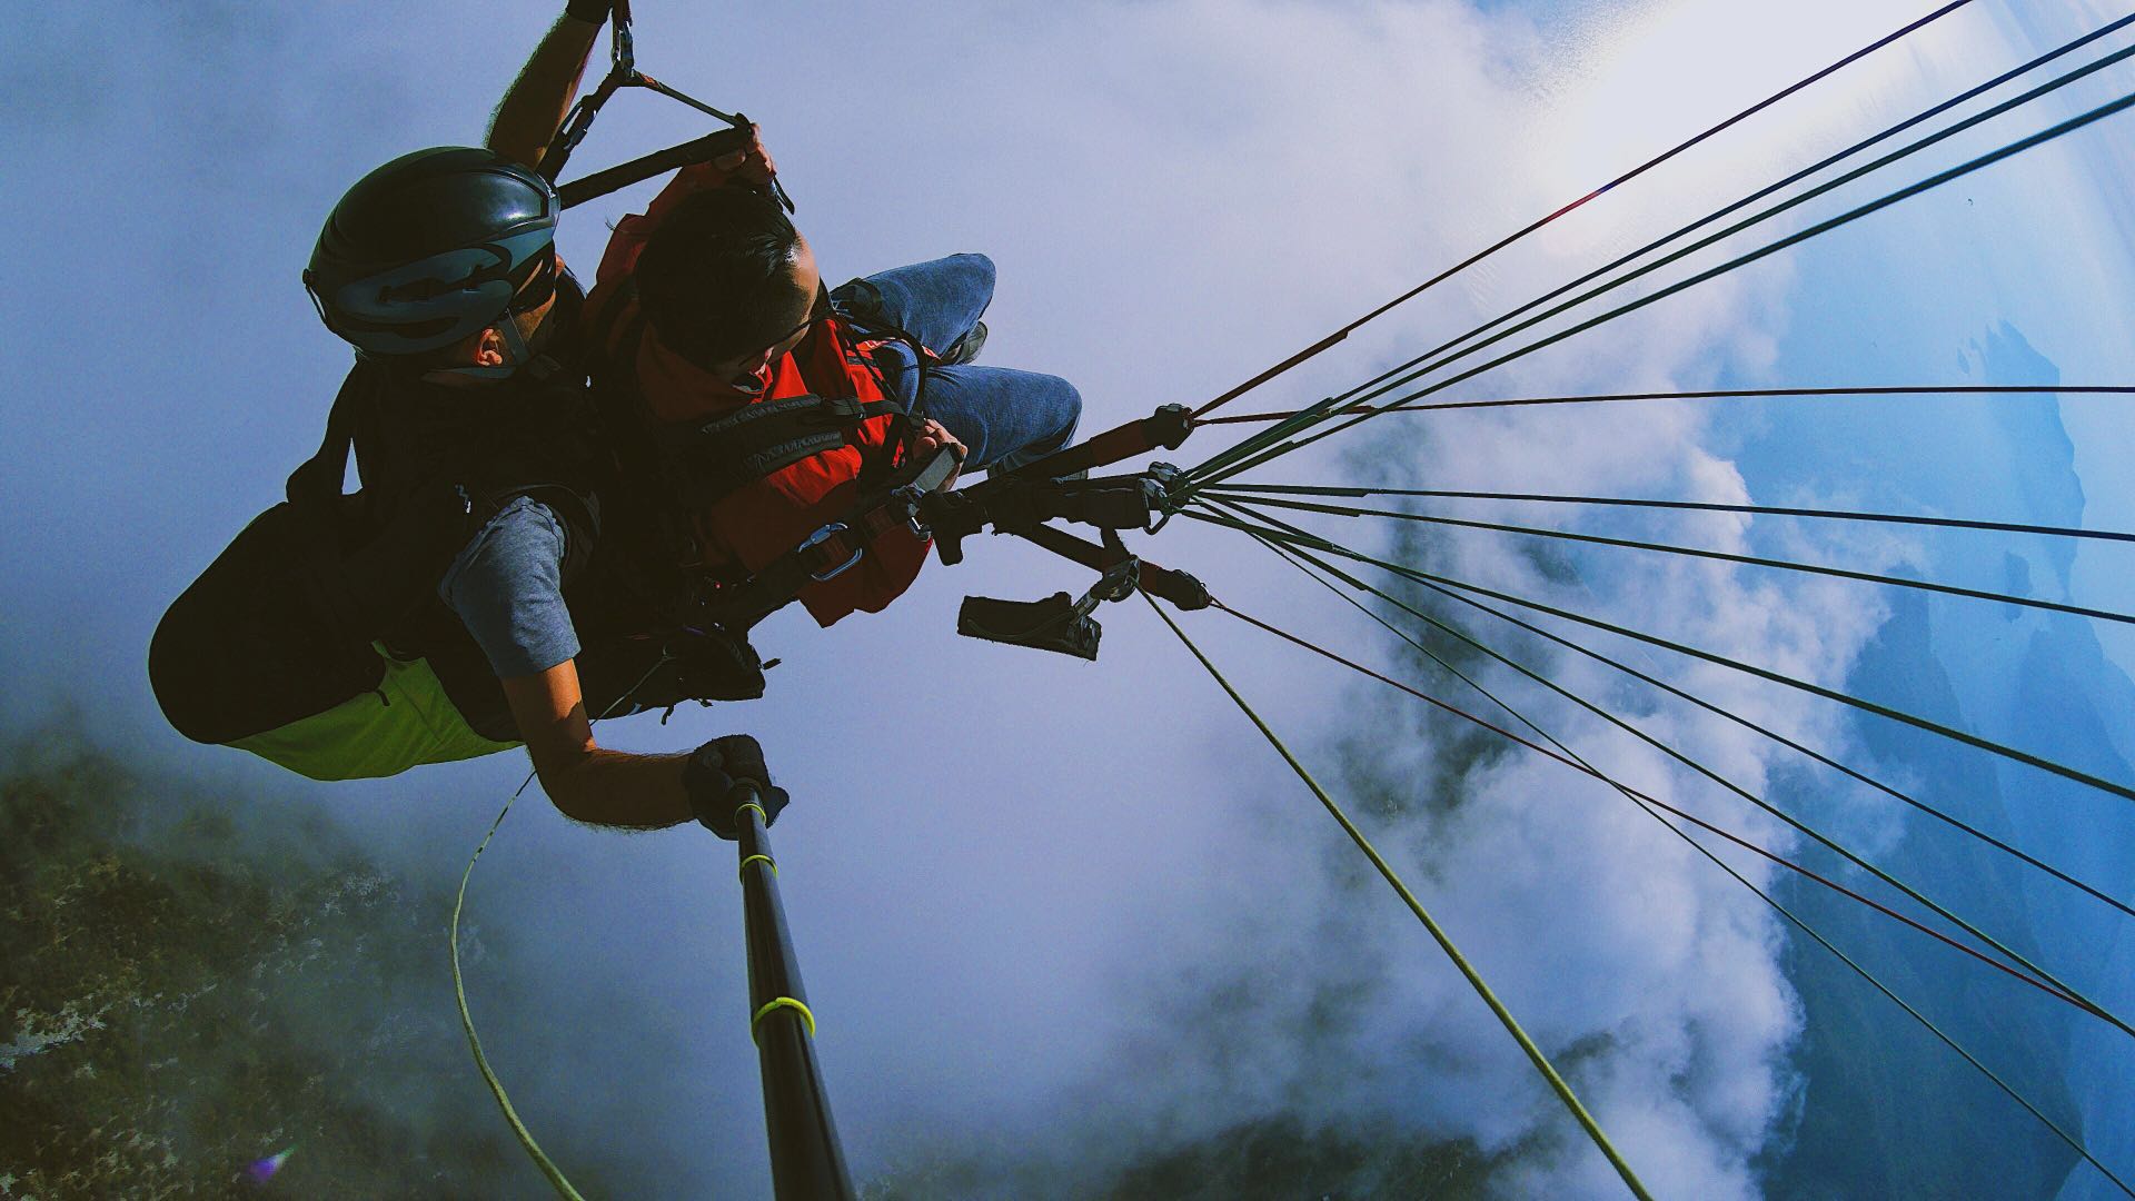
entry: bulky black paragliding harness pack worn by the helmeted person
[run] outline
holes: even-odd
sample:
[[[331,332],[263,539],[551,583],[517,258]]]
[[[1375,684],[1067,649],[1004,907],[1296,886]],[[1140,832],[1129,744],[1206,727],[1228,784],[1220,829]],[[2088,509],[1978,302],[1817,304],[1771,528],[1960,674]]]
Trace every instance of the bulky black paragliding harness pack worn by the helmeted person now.
[[[344,494],[350,453],[361,487]],[[149,682],[164,716],[209,744],[280,729],[376,690],[384,648],[429,660],[476,733],[517,742],[487,658],[436,592],[517,496],[566,526],[566,603],[591,714],[762,697],[756,652],[679,613],[658,547],[636,536],[649,519],[611,468],[583,378],[553,370],[446,389],[359,361],[288,500],[246,526],[158,624]]]

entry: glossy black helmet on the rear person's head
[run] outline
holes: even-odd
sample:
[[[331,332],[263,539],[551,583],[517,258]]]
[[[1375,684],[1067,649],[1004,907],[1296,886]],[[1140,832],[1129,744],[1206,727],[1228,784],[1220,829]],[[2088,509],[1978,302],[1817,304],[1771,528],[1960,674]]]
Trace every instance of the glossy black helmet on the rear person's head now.
[[[303,286],[361,355],[423,355],[553,295],[562,203],[493,150],[440,145],[386,162],[333,205]],[[536,276],[549,288],[519,288]],[[521,355],[523,357],[523,355]]]

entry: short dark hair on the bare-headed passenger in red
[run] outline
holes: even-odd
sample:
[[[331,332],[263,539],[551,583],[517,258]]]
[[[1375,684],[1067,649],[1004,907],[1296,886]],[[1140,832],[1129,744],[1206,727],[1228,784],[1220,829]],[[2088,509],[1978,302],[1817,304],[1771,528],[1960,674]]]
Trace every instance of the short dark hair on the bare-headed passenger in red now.
[[[801,235],[771,197],[711,188],[675,205],[638,254],[638,306],[668,348],[700,363],[792,333],[784,286]]]

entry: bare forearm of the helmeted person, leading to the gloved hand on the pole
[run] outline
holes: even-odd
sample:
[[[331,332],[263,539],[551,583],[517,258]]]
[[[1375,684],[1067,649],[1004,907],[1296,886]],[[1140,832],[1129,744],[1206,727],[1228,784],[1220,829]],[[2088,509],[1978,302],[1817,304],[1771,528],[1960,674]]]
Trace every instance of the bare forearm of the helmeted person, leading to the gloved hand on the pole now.
[[[594,724],[579,692],[579,665],[564,660],[536,675],[504,680],[519,733],[540,774],[540,786],[572,821],[626,829],[662,829],[692,821],[681,786],[687,754],[628,754],[594,744]]]

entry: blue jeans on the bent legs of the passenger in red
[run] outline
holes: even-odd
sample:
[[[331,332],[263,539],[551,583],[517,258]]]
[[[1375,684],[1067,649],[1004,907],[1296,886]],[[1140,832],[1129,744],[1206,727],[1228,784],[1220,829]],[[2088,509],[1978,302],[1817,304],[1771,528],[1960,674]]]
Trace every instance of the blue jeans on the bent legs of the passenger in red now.
[[[950,254],[852,280],[831,303],[863,331],[892,325],[933,353],[948,353],[993,301],[993,259]],[[967,470],[1016,468],[1068,444],[1082,417],[1072,383],[1038,372],[929,368],[901,342],[875,353],[890,393],[920,417],[933,417],[969,447]],[[922,387],[924,385],[924,387]]]

